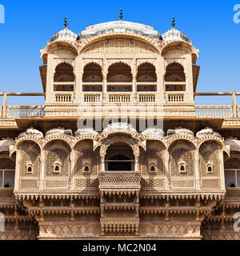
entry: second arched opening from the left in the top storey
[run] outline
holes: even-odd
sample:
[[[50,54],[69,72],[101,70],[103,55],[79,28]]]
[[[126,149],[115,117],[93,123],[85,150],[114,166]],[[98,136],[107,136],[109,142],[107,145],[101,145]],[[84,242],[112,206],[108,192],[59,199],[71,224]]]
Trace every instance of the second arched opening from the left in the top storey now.
[[[102,91],[102,67],[96,63],[87,64],[82,76],[83,91]],[[95,83],[86,84],[86,83]]]

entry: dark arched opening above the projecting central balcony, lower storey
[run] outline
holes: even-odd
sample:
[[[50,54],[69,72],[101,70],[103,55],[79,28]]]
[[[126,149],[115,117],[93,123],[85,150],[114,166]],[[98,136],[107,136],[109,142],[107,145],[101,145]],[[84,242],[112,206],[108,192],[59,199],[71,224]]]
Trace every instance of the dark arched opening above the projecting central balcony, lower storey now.
[[[134,153],[132,148],[122,142],[115,142],[106,151],[106,170],[134,170]]]

